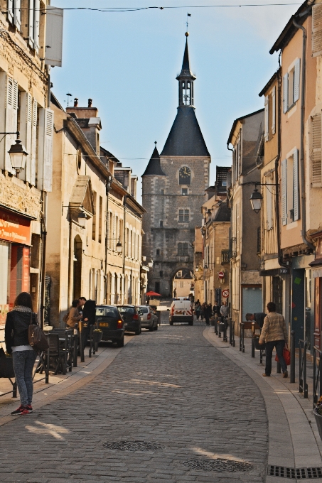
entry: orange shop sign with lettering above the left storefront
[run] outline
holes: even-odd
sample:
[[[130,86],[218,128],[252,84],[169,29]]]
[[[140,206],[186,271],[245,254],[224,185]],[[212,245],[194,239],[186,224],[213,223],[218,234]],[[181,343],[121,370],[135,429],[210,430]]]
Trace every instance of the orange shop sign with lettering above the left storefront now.
[[[11,241],[11,243],[30,245],[30,220],[19,217],[15,213],[0,210],[0,239]]]

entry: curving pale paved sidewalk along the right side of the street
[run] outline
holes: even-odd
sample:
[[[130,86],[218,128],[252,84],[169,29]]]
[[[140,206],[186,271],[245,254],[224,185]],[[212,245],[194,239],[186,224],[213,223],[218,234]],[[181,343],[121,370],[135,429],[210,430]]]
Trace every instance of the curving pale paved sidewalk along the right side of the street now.
[[[219,340],[213,332],[213,327],[207,327],[203,335],[215,347],[225,347],[222,354],[244,369],[262,392],[269,421],[268,464],[277,465],[279,464],[276,462],[278,459],[279,462],[285,461],[283,466],[321,467],[322,444],[318,437],[314,416],[309,409],[311,402],[300,399],[294,385],[288,388],[287,381],[281,378],[281,374],[277,374],[277,377],[272,374],[269,378],[263,378],[264,364],[258,364],[256,359],[252,359],[250,352],[242,353],[239,351],[239,347],[232,347],[227,342]],[[277,443],[280,441],[281,434],[283,438],[286,437],[286,442],[282,445]],[[277,445],[281,449],[278,458]],[[309,455],[304,454],[304,447],[310,447]],[[318,480],[315,479],[316,482]],[[279,478],[267,477],[267,483],[271,481],[277,483]],[[285,481],[284,478],[283,481]]]

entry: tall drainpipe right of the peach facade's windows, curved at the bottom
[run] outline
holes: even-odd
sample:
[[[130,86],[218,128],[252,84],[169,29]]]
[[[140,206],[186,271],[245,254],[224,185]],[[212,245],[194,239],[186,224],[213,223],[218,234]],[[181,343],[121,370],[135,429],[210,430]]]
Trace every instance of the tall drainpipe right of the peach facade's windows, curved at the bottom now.
[[[306,13],[306,12],[304,12]],[[302,14],[303,15],[303,14]],[[302,68],[301,68],[301,141],[300,141],[300,164],[301,164],[301,212],[302,212],[302,241],[309,249],[315,251],[315,246],[306,238],[306,194],[305,194],[305,162],[304,162],[304,123],[305,123],[305,87],[306,87],[306,28],[296,22],[293,18],[293,25],[301,28],[302,40]]]

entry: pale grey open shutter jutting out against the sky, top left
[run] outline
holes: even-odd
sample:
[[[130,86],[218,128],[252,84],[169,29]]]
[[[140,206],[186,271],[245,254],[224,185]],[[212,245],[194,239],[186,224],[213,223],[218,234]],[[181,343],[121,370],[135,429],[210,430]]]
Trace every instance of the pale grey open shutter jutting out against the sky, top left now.
[[[63,9],[47,6],[45,31],[45,64],[62,65],[63,55]]]

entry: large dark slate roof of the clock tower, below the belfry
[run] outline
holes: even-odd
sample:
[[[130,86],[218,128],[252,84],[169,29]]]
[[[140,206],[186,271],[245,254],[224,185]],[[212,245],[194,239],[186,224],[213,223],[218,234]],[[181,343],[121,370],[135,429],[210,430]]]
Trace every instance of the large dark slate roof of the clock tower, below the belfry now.
[[[178,107],[161,156],[210,156],[194,107]]]

